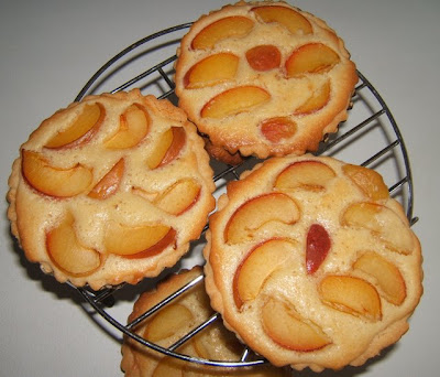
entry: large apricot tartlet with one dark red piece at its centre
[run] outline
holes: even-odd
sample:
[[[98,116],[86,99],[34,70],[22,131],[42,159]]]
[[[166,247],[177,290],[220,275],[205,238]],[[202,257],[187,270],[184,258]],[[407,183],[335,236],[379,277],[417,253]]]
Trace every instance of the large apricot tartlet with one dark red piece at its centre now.
[[[421,249],[377,172],[272,158],[228,184],[209,224],[211,304],[272,364],[359,366],[408,330]]]

